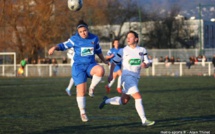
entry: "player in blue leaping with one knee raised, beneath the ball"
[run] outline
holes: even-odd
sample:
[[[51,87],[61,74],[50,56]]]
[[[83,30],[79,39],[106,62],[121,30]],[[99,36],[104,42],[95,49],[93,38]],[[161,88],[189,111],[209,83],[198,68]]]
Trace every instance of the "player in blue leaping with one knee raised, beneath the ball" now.
[[[65,51],[70,48],[73,48],[75,52],[72,66],[72,78],[74,79],[77,90],[76,100],[81,119],[83,122],[87,122],[88,117],[85,110],[87,78],[92,78],[89,87],[89,96],[93,97],[95,86],[104,76],[104,68],[96,63],[95,54],[98,55],[105,64],[108,64],[108,62],[102,54],[98,37],[89,32],[88,25],[83,20],[78,22],[75,35],[71,36],[66,42],[50,48],[48,54],[53,54],[55,50]]]

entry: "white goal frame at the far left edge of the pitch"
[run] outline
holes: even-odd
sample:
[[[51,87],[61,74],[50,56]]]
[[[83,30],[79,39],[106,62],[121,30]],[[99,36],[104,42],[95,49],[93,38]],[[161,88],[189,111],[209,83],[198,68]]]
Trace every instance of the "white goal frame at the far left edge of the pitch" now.
[[[16,76],[16,53],[0,52],[0,76]]]

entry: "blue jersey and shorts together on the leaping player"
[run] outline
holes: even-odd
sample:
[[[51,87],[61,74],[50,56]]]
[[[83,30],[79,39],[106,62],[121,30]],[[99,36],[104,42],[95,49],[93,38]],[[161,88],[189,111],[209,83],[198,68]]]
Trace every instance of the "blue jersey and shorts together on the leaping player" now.
[[[92,78],[90,71],[97,65],[95,54],[102,53],[99,39],[96,35],[89,33],[88,38],[84,39],[76,33],[66,42],[60,43],[57,46],[60,51],[65,51],[70,48],[74,49],[72,77],[76,86],[86,82],[87,78]]]

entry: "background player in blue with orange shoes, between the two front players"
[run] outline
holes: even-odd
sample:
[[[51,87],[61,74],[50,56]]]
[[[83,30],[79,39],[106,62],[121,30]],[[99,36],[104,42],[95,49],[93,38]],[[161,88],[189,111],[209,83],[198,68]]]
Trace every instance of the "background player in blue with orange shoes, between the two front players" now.
[[[112,48],[107,52],[107,56],[105,57],[106,60],[109,60],[110,63],[113,62],[113,58],[116,56],[116,54],[119,51],[119,40],[118,39],[114,39],[112,42]],[[115,82],[116,78],[118,77],[118,81],[117,81],[117,91],[118,93],[122,93],[122,89],[121,89],[121,75],[122,75],[122,71],[121,71],[121,64],[117,64],[113,70],[113,79],[112,81],[107,84],[105,86],[106,88],[106,92],[110,93],[111,90],[111,86],[113,85],[113,83]]]

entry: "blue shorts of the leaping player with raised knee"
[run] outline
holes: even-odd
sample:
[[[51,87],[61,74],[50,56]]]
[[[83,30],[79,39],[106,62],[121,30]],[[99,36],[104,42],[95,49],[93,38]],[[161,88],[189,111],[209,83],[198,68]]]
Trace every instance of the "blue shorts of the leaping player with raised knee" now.
[[[73,64],[72,66],[72,78],[74,79],[75,85],[87,82],[87,78],[92,78],[90,71],[97,63],[91,64]]]

